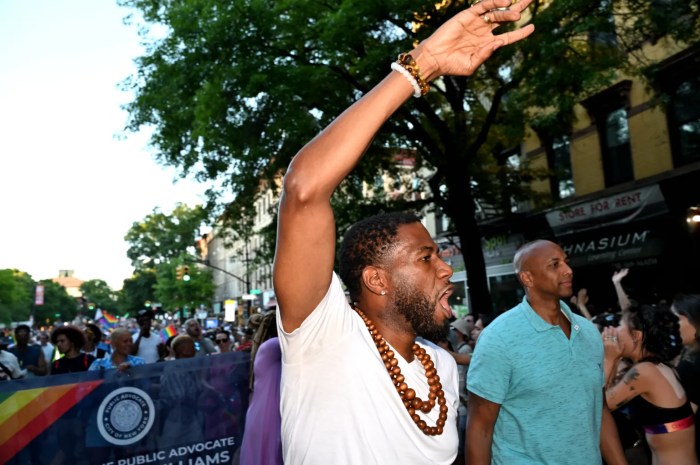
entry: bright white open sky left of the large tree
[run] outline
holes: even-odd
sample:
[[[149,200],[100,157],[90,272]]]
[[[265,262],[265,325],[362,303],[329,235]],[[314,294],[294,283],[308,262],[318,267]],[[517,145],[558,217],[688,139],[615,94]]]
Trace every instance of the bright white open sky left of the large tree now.
[[[146,134],[116,137],[131,100],[118,84],[142,54],[128,13],[115,0],[0,0],[0,269],[120,288],[131,224],[202,201],[203,185],[156,164]]]

